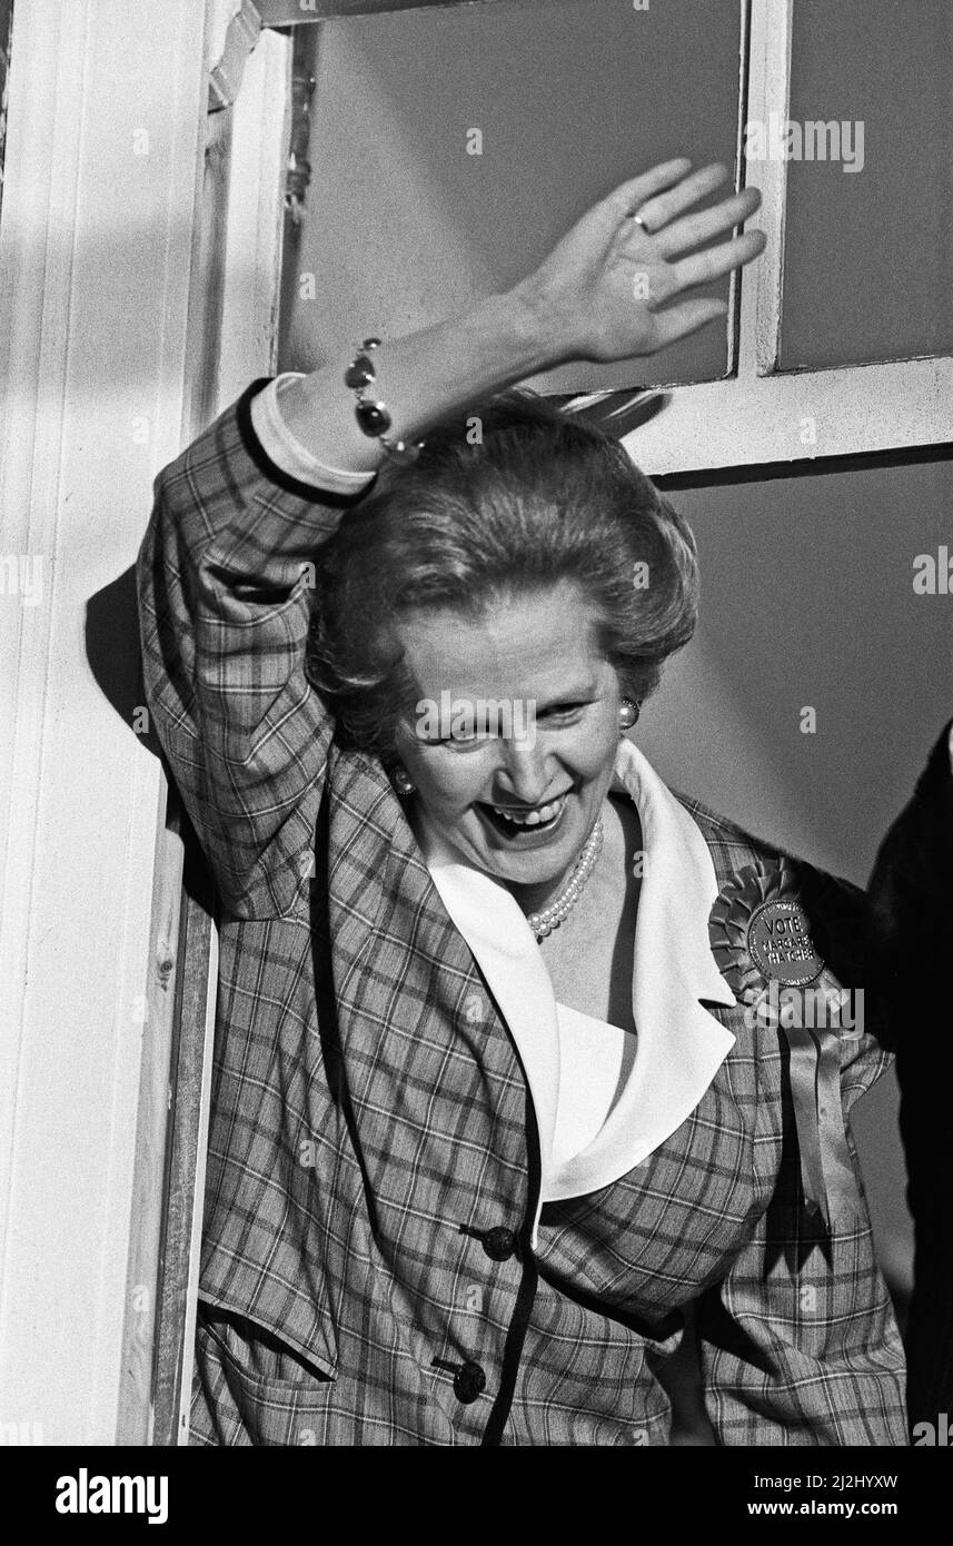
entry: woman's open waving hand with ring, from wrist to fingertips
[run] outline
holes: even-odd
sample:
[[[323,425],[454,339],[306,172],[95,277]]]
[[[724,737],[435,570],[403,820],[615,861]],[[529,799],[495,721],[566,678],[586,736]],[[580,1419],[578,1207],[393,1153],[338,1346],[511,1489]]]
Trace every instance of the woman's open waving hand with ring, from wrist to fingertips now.
[[[534,312],[564,359],[655,354],[726,314],[724,301],[689,292],[763,252],[760,230],[729,237],[761,196],[744,189],[697,210],[727,173],[720,164],[700,172],[690,165],[684,158],[666,161],[622,182],[514,286],[511,294]]]

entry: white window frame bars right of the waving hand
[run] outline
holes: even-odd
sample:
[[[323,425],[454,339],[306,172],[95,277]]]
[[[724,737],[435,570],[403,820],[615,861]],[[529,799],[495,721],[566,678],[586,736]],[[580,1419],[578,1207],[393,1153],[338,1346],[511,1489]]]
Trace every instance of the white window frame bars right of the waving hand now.
[[[437,0],[440,8],[460,0]],[[483,0],[493,5],[494,0]],[[953,356],[934,354],[825,369],[782,371],[788,164],[744,162],[749,121],[786,119],[797,0],[740,0],[738,142],[735,176],[761,193],[768,246],[732,286],[726,376],[661,388],[663,402],[621,436],[655,476],[721,473],[777,462],[862,456],[945,445],[953,439]],[[264,25],[428,9],[426,0],[258,0]],[[576,394],[578,408],[624,411],[632,393]],[[738,425],[744,434],[738,436]]]

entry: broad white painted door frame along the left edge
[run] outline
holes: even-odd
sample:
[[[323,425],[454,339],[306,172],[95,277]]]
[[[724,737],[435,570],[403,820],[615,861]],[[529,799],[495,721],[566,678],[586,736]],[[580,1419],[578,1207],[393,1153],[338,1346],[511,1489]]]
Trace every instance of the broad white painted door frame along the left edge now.
[[[136,734],[134,609],[113,583],[154,473],[201,428],[196,383],[216,368],[229,396],[272,365],[278,34],[233,127],[242,198],[259,196],[232,206],[219,360],[207,318],[196,329],[209,71],[233,9],[14,8],[0,215],[0,1424],[14,1442],[150,1435],[181,844]]]

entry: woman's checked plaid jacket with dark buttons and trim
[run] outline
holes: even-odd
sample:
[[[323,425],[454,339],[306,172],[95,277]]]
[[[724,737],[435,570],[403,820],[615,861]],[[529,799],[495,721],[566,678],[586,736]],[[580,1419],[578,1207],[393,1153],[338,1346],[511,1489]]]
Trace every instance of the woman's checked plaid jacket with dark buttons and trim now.
[[[667,1444],[695,1306],[721,1444],[905,1444],[863,1204],[803,1207],[778,1033],[602,1192],[530,1221],[511,1036],[374,761],[303,674],[307,570],[348,499],[255,439],[253,383],[156,479],[147,690],[221,897],[198,1444]],[[720,884],[768,850],[689,804]],[[842,1044],[845,1107],[883,1070]]]

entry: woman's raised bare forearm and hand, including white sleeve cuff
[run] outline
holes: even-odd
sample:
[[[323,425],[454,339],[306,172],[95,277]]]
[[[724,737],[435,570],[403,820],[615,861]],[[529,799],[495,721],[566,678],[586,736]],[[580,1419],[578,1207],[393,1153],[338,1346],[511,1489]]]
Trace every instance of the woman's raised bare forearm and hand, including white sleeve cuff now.
[[[445,414],[567,360],[653,354],[723,317],[723,301],[690,292],[765,247],[758,230],[731,237],[758,207],[755,190],[695,209],[724,178],[720,165],[692,172],[684,158],[666,161],[601,199],[505,294],[402,337],[391,337],[386,318],[368,318],[365,326],[385,340],[374,354],[375,391],[391,413],[391,436],[425,436]],[[292,382],[281,413],[318,461],[371,472],[383,450],[357,425],[346,363]]]

